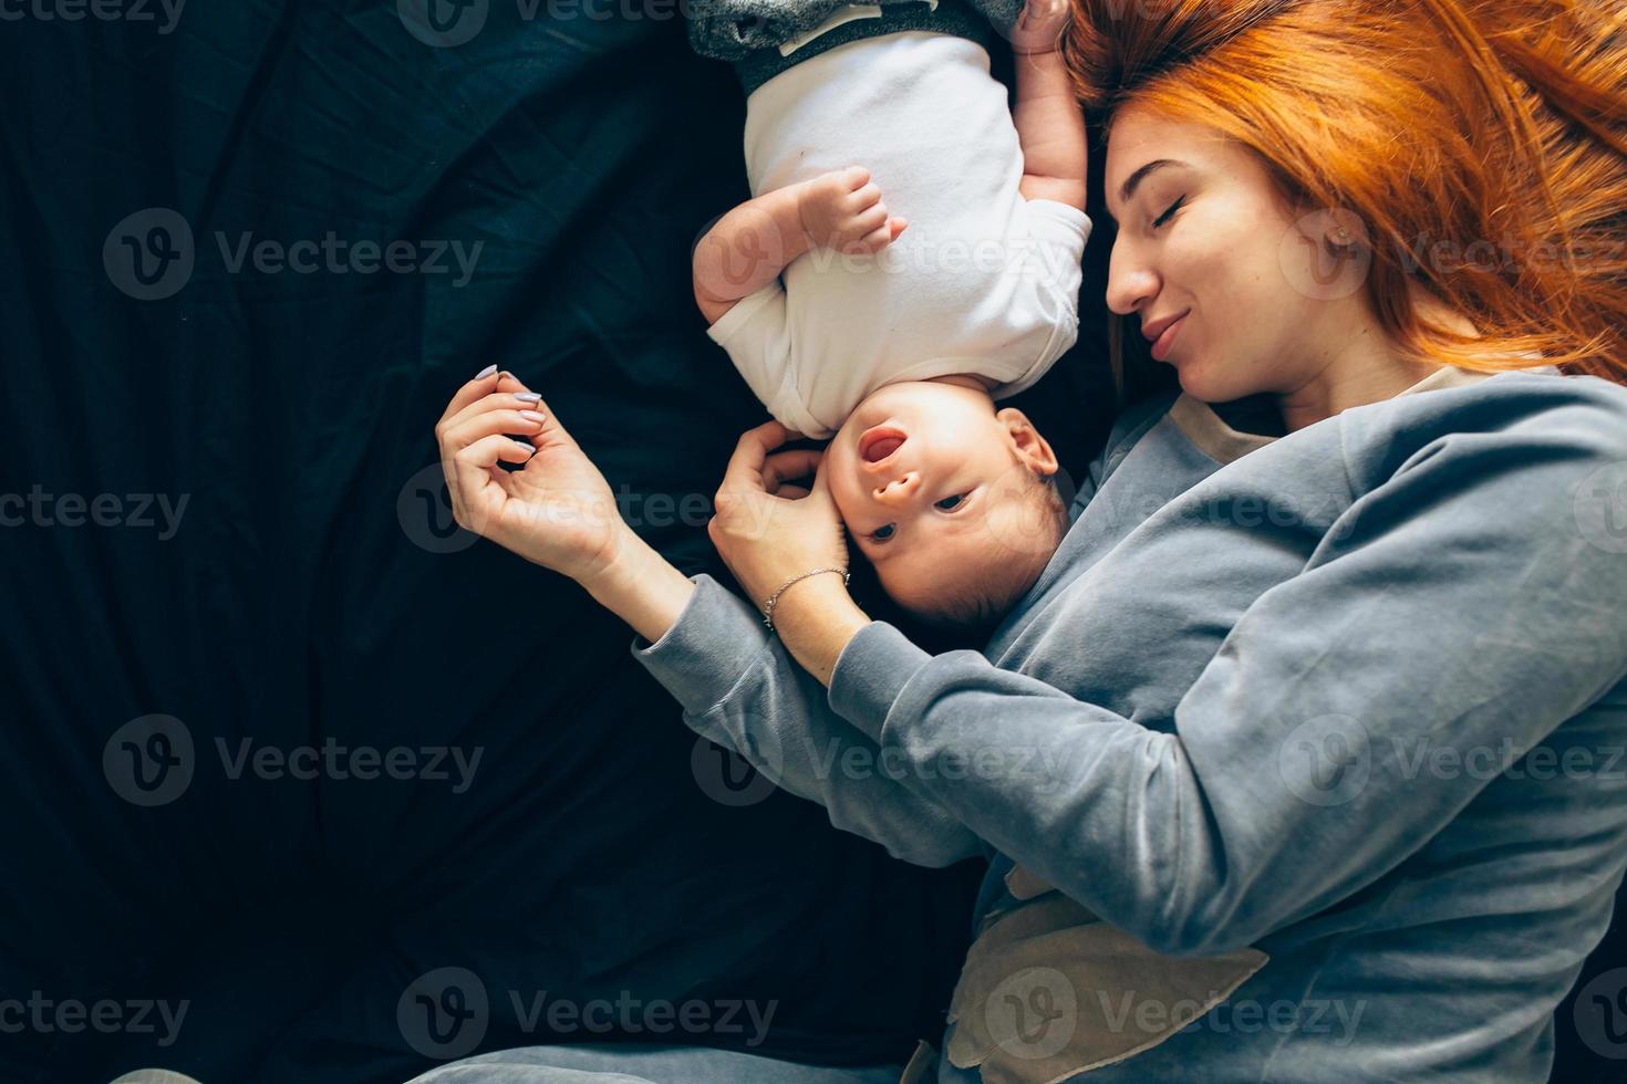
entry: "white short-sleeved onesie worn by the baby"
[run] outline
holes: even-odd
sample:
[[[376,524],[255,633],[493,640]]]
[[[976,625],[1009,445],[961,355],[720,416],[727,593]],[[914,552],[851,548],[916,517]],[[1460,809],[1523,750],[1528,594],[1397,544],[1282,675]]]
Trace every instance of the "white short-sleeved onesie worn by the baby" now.
[[[752,193],[866,166],[909,228],[877,255],[815,249],[708,335],[768,411],[828,437],[875,388],[975,374],[1027,388],[1079,335],[1090,219],[1025,200],[1022,148],[989,54],[905,31],[830,49],[747,99]]]

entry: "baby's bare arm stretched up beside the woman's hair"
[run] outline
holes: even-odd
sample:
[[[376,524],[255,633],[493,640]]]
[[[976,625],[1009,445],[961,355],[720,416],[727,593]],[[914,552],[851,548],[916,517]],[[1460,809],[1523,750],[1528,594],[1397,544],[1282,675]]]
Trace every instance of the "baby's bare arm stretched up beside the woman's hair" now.
[[[1085,117],[1059,52],[1067,11],[1067,0],[1028,0],[1017,16],[1012,120],[1022,143],[1023,197],[1085,210]]]

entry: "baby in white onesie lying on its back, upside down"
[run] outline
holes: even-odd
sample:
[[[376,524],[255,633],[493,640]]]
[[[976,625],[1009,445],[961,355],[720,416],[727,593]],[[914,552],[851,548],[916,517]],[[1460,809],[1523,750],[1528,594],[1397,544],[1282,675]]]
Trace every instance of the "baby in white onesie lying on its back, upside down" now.
[[[825,471],[887,593],[1002,613],[1067,530],[1056,458],[994,401],[1074,343],[1090,221],[1062,0],[1007,33],[1015,102],[965,0],[853,5],[737,63],[753,198],[695,249],[695,301]]]

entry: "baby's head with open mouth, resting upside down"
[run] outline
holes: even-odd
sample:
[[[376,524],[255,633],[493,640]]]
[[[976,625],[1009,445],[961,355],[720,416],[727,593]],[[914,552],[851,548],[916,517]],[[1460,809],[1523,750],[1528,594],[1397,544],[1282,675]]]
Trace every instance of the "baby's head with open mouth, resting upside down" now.
[[[879,388],[836,432],[825,473],[882,588],[939,626],[1004,614],[1067,533],[1051,445],[970,382]]]

